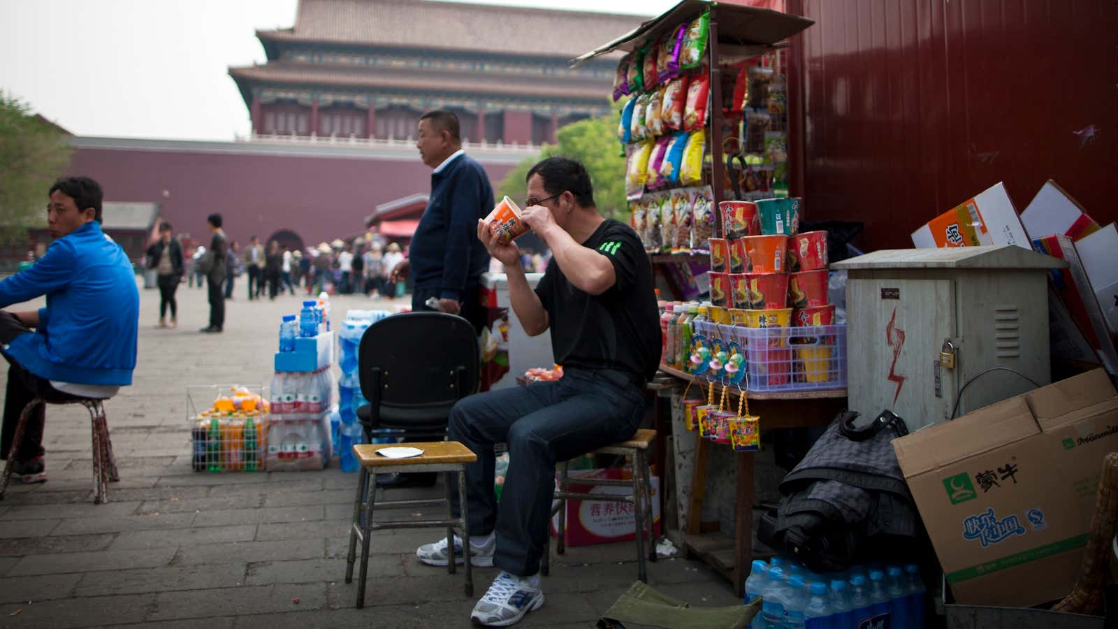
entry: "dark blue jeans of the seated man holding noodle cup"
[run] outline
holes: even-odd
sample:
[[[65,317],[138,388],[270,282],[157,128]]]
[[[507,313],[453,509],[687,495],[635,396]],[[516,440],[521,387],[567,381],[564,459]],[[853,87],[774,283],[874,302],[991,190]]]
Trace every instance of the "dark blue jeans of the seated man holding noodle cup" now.
[[[470,535],[496,531],[494,565],[521,576],[540,571],[556,462],[633,436],[644,417],[637,379],[612,369],[570,368],[557,382],[480,393],[455,404],[448,438],[477,454],[465,468]],[[498,505],[493,444],[502,442],[509,472]]]

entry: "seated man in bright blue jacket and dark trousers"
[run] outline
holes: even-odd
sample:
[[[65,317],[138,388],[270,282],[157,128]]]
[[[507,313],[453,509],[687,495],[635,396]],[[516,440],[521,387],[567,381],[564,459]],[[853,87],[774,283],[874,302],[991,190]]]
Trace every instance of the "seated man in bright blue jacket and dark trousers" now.
[[[0,310],[0,351],[10,364],[0,439],[6,458],[20,412],[35,397],[106,398],[132,384],[140,293],[124,250],[101,231],[101,186],[88,177],[55,181],[47,204],[55,241],[34,266],[0,281],[0,308],[47,297],[39,310]],[[12,463],[28,482],[46,480],[44,421],[40,404]]]

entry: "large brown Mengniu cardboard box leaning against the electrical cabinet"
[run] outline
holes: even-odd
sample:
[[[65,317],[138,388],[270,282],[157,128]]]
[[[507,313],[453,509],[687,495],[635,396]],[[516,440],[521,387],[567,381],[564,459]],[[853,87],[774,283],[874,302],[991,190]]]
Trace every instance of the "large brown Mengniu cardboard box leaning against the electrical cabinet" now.
[[[1029,607],[1071,591],[1102,459],[1118,450],[1106,372],[893,441],[955,600]]]

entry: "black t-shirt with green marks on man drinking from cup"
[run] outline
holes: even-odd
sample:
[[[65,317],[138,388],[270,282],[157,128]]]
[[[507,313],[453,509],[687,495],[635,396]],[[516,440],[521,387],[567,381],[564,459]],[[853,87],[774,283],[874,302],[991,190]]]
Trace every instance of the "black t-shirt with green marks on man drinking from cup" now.
[[[617,280],[593,295],[575,288],[558,261],[548,264],[536,294],[548,311],[556,363],[652,379],[660,365],[660,316],[644,245],[632,227],[607,218],[582,246],[605,255]]]

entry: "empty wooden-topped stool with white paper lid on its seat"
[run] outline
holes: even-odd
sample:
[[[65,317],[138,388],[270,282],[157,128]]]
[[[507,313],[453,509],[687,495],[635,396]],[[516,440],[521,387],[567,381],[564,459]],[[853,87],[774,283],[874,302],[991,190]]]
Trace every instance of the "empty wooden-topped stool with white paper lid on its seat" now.
[[[357,585],[357,608],[364,607],[364,580],[369,572],[369,534],[382,528],[433,528],[446,527],[447,550],[451,561],[446,562],[446,571],[454,574],[454,527],[462,531],[462,551],[465,555],[466,595],[474,593],[474,582],[470,573],[470,527],[466,505],[466,480],[462,472],[466,463],[477,460],[477,456],[457,441],[428,441],[401,443],[401,447],[418,448],[423,454],[408,459],[389,459],[381,457],[377,450],[388,448],[385,443],[362,443],[353,447],[353,453],[361,462],[360,477],[357,484],[357,498],[353,500],[353,523],[350,526],[350,550],[345,557],[345,582],[353,582],[353,561],[357,554],[357,541],[361,539],[361,573]],[[446,503],[447,519],[427,520],[388,520],[372,522],[372,508],[377,497],[376,476],[392,472],[446,472],[446,498],[433,500],[381,500],[381,507],[426,507]],[[458,472],[458,501],[461,517],[455,518],[451,509],[451,491],[453,472]]]

